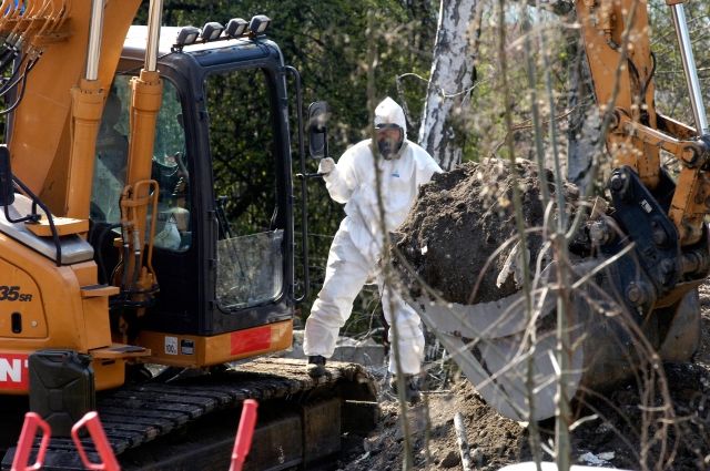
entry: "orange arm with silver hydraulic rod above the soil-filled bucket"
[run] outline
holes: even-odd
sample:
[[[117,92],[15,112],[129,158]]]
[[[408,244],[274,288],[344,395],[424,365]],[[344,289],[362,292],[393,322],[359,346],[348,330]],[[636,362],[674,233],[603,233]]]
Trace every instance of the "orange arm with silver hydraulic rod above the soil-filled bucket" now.
[[[680,162],[668,215],[681,246],[703,234],[710,211],[710,136],[683,10],[684,1],[667,0],[678,37],[696,127],[658,113],[653,102],[656,58],[649,45],[648,11],[638,0],[577,2],[597,103],[610,114],[607,146],[615,167],[629,166],[651,191],[659,184],[659,153]]]

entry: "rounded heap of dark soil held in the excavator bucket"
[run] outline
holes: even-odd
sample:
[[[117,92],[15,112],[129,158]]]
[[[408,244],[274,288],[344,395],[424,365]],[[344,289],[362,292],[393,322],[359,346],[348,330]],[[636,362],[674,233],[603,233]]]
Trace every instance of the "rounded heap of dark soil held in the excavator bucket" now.
[[[540,177],[530,161],[519,160],[516,170],[525,226],[534,229],[528,232],[527,246],[530,260],[535,260],[542,244],[545,215]],[[542,180],[555,199],[552,173],[545,170]],[[433,181],[420,188],[414,208],[396,234],[397,254],[393,257],[414,295],[417,294],[416,279],[423,279],[445,299],[460,304],[495,300],[518,289],[513,276],[500,287],[496,284],[514,244],[493,258],[484,272],[489,257],[518,233],[513,205],[514,181],[508,161],[489,158],[467,162],[434,175]],[[565,184],[564,193],[574,214],[579,192],[576,186]],[[397,262],[398,254],[414,268],[414,274]],[[474,293],[479,274],[481,278]]]

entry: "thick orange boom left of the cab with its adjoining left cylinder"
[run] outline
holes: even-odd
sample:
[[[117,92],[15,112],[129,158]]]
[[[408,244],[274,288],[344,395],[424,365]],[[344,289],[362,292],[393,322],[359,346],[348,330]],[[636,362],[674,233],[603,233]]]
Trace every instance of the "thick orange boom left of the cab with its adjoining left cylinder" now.
[[[3,11],[6,4],[12,3],[3,2]],[[94,157],[95,131],[85,126],[95,125],[98,130],[103,110],[100,91],[106,90],[113,80],[125,34],[141,0],[103,2],[103,24],[95,32],[100,40],[94,41],[98,49],[90,51],[93,3],[97,2],[20,2],[27,6],[27,11],[4,14],[0,24],[0,33],[20,38],[29,58],[39,57],[28,72],[22,100],[12,114],[9,136],[12,168],[60,216],[68,212],[73,216],[88,214],[92,175],[85,174],[84,164],[93,168],[89,161]],[[45,24],[40,27],[42,21]],[[87,59],[92,55],[98,62],[95,76],[88,78]],[[42,139],[38,139],[38,132]],[[80,186],[89,191],[78,190]],[[70,209],[70,205],[77,209]],[[80,206],[85,209],[78,209]]]

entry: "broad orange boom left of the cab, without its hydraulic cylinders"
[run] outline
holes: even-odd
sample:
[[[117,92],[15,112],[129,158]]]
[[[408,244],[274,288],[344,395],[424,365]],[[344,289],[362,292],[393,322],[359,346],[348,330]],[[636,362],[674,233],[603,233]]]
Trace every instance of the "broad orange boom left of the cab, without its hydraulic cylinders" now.
[[[47,12],[48,24],[42,29],[28,28],[29,38],[22,40],[24,53],[40,59],[29,72],[22,100],[12,113],[8,146],[16,175],[53,213],[63,216],[68,205],[72,145],[72,95],[69,91],[78,88],[85,76],[94,2],[45,0],[27,3]],[[95,58],[95,80],[100,89],[108,90],[113,81],[125,34],[140,3],[141,0],[104,2],[100,51]],[[3,32],[10,33],[19,23],[8,19],[4,25]],[[18,33],[20,31],[16,31]],[[101,102],[99,112],[102,109]],[[43,139],[36,139],[38,130],[42,130]],[[84,152],[93,154],[91,150]]]

